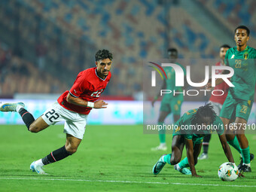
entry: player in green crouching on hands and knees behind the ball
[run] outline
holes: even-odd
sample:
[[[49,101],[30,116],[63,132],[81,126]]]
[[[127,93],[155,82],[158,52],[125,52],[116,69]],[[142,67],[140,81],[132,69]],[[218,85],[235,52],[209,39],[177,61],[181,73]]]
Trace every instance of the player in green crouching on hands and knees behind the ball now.
[[[234,163],[226,136],[223,134],[224,125],[209,103],[200,108],[187,111],[175,123],[175,130],[172,133],[172,154],[160,157],[153,167],[154,175],[157,175],[163,169],[163,166],[169,163],[170,165],[175,165],[175,169],[179,172],[194,177],[201,177],[197,175],[195,169],[197,157],[201,151],[203,137],[215,130],[218,133],[227,160]],[[186,145],[187,149],[187,158],[182,160],[179,166],[180,163],[177,163],[181,160],[184,145]],[[177,166],[179,167],[177,168]],[[190,170],[185,168],[188,166]]]

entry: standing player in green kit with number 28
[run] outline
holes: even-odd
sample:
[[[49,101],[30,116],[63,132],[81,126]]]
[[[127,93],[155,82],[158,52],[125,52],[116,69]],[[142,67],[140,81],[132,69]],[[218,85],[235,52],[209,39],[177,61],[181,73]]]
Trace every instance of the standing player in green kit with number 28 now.
[[[247,45],[249,35],[250,30],[246,26],[236,27],[234,35],[236,47],[227,50],[225,62],[226,66],[230,66],[234,70],[234,75],[231,78],[231,83],[234,87],[230,87],[220,114],[224,127],[227,129],[227,141],[237,151],[241,151],[240,172],[251,172],[250,149],[248,139],[245,136],[245,129],[254,100],[256,50]],[[217,79],[216,84],[220,84],[222,81],[222,79]],[[212,84],[208,83],[206,87],[210,88]],[[228,126],[231,123],[232,115],[236,117],[233,123],[233,130]]]

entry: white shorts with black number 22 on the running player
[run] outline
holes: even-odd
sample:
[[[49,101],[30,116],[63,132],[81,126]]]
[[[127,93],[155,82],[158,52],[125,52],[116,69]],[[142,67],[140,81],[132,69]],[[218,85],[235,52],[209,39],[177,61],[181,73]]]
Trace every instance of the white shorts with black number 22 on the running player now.
[[[48,125],[65,120],[63,133],[68,133],[78,139],[83,139],[84,137],[88,114],[78,114],[74,111],[69,111],[59,105],[58,102],[55,102],[41,117]]]

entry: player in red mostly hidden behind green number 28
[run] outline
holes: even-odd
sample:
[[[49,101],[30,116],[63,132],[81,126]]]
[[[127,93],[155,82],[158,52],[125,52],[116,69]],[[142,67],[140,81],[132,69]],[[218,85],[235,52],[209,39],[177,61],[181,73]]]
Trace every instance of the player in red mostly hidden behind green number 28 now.
[[[224,59],[225,59],[226,52],[228,49],[230,49],[229,45],[227,45],[227,44],[221,45],[220,53],[219,53],[221,60],[219,62],[216,62],[215,66],[225,66]],[[221,74],[222,72],[223,72],[223,70],[216,71],[217,74]],[[215,87],[215,90],[223,90],[223,95],[219,96],[222,93],[217,93],[217,91],[216,91],[216,94],[212,95],[209,99],[209,102],[212,103],[213,110],[215,111],[217,116],[219,116],[221,113],[221,108],[222,108],[222,105],[227,97],[228,89],[229,89],[229,86],[226,84],[226,82],[222,82],[221,84],[218,84]],[[221,92],[221,91],[219,91],[219,92]],[[200,157],[198,157],[199,160],[208,159],[208,149],[209,149],[209,142],[210,142],[211,136],[212,136],[212,134],[209,134],[203,138],[203,154],[201,154]]]

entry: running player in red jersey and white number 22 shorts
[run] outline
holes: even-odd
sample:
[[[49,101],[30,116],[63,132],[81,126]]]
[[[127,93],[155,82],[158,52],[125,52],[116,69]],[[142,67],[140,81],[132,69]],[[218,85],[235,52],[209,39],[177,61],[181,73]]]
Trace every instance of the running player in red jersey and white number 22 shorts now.
[[[57,102],[37,120],[26,111],[23,102],[5,103],[0,106],[0,111],[17,111],[32,133],[38,133],[56,122],[65,120],[66,144],[46,157],[34,161],[30,165],[33,172],[46,174],[42,169],[44,165],[74,154],[83,139],[90,110],[107,107],[108,103],[97,99],[110,81],[113,56],[108,50],[98,50],[95,59],[96,67],[80,72],[72,88],[62,93]]]

